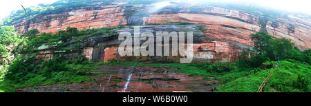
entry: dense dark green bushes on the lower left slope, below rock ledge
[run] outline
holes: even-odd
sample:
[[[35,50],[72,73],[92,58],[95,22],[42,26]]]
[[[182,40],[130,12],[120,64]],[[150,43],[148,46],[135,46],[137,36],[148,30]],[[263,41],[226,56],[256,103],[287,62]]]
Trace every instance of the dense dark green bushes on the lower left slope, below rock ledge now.
[[[58,56],[49,61],[36,61],[25,56],[19,56],[18,59],[7,74],[8,83],[15,84],[15,87],[89,81],[82,75],[95,66],[93,63],[77,62],[80,60],[66,61]]]

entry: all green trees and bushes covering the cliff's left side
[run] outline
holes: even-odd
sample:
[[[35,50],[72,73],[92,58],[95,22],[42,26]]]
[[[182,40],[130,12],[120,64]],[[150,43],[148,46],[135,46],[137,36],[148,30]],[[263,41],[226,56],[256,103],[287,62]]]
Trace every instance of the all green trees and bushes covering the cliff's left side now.
[[[8,74],[6,75],[5,87],[0,88],[2,92],[12,92],[12,89],[19,87],[30,87],[36,85],[48,85],[55,83],[73,83],[81,81],[90,81],[90,78],[85,77],[97,65],[104,65],[103,63],[93,63],[86,61],[84,56],[77,60],[66,59],[66,52],[69,51],[82,52],[82,46],[79,43],[88,43],[86,40],[90,36],[111,36],[114,37],[117,33],[116,28],[98,28],[88,30],[77,30],[77,28],[68,27],[66,30],[57,32],[56,34],[41,33],[38,30],[29,30],[26,34],[25,43],[21,55],[12,63]],[[11,59],[8,58],[8,50],[6,45],[18,45],[21,43],[19,34],[15,34],[14,27],[1,27],[0,39],[0,54],[1,54],[1,79],[8,67]],[[39,36],[38,36],[39,35]],[[77,40],[75,43],[70,43],[72,40]],[[4,45],[3,45],[4,44]],[[78,44],[78,45],[77,45]],[[75,47],[68,47],[69,45],[77,45]],[[13,54],[17,48],[12,50]],[[44,59],[37,59],[40,49],[46,49],[54,52],[57,56],[55,59],[44,61]],[[11,55],[11,54],[10,54]],[[7,59],[7,60],[4,60]],[[117,64],[117,61],[109,61],[109,65]],[[13,90],[14,91],[14,90]]]

